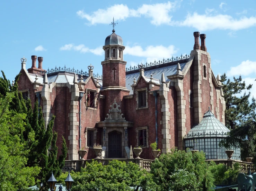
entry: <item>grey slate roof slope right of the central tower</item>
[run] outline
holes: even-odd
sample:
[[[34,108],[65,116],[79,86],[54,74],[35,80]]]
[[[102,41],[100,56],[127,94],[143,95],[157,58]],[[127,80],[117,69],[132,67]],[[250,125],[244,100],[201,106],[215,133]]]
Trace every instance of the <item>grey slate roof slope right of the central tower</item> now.
[[[185,65],[186,65],[186,62],[180,63],[181,71],[183,70]],[[146,71],[144,71],[144,76],[146,77],[147,82],[149,82],[150,74],[153,74],[153,76],[152,76],[153,82],[160,84],[160,79],[161,79],[162,73],[164,72],[165,80],[170,81],[167,78],[167,76],[175,74],[175,72],[177,71],[176,68],[177,68],[177,64],[162,67],[162,68],[157,68],[157,69],[153,69],[153,70],[146,70]],[[126,88],[128,90],[130,90],[130,94],[133,94],[132,87],[131,87],[131,85],[133,84],[133,78],[135,78],[135,80],[137,81],[139,79],[139,76],[140,76],[139,70],[136,73],[126,74]]]

